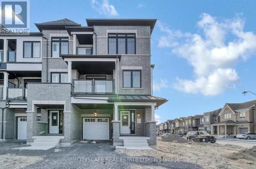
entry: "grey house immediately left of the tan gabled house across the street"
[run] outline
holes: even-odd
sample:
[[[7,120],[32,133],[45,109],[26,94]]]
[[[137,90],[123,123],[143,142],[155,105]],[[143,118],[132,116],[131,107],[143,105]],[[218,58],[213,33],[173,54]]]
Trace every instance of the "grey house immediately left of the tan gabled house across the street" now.
[[[218,115],[221,112],[221,110],[222,109],[220,108],[220,109],[217,109],[214,111],[204,113],[203,118],[200,119],[200,122],[203,123],[203,131],[214,134],[210,128],[210,125],[220,122]],[[216,127],[214,127],[214,128],[216,128]],[[217,130],[215,130],[215,131],[217,131]]]

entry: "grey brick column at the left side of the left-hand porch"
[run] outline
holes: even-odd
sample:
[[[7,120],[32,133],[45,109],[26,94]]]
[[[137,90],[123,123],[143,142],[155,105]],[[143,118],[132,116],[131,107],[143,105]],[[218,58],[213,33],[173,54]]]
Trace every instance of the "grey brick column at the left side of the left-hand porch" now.
[[[32,136],[37,135],[36,133],[36,117],[37,117],[37,107],[34,106],[34,111],[27,111],[27,144],[34,142]]]

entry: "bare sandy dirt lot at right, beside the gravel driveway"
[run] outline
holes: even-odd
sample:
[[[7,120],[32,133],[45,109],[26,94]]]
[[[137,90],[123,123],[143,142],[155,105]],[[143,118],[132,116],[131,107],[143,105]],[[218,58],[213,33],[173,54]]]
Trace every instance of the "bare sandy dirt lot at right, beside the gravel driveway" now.
[[[256,147],[245,149],[231,144],[178,143],[157,141],[156,149],[116,150],[116,153],[157,158],[173,158],[202,168],[256,168]]]

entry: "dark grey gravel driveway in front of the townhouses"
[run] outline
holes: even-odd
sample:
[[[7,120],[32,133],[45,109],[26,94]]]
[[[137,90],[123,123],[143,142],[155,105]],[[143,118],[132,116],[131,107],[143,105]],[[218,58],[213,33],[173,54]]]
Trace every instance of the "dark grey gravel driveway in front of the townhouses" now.
[[[20,147],[20,143],[2,142],[0,143],[0,156],[8,157],[9,160],[2,160],[1,163],[10,162],[12,168],[201,168],[188,162],[174,162],[174,159],[165,159],[166,161],[160,162],[148,156],[118,154],[111,144],[111,142],[95,144],[77,142],[66,148],[38,151],[11,150],[11,148]],[[26,162],[25,158],[23,160],[25,165],[20,165],[20,158],[16,158],[16,162],[11,161],[14,157],[34,158],[35,160]],[[8,165],[4,166],[8,168]]]

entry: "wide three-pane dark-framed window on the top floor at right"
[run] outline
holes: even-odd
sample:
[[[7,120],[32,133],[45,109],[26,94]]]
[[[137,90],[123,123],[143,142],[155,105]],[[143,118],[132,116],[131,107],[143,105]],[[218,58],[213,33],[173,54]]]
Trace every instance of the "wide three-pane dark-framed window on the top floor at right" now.
[[[110,36],[110,35],[115,35],[115,36]],[[125,35],[125,36],[120,36],[118,35]],[[127,35],[134,35],[132,36],[127,36]],[[136,34],[135,33],[109,33],[108,34],[108,54],[110,54],[110,45],[109,45],[109,39],[116,39],[116,55],[136,55]],[[125,54],[118,54],[118,39],[125,39]],[[134,54],[127,54],[127,39],[134,39]],[[115,55],[115,54],[114,54]]]

